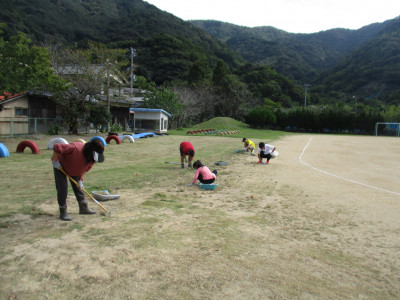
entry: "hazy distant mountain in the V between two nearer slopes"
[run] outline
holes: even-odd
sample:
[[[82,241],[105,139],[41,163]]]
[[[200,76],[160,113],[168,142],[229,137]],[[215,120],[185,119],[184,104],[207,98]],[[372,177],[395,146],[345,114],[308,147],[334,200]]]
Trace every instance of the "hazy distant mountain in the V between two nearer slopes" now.
[[[359,30],[293,34],[270,26],[249,28],[218,21],[191,22],[225,42],[247,61],[273,67],[299,83],[312,82],[322,71],[334,67],[375,37],[388,23],[371,24]]]

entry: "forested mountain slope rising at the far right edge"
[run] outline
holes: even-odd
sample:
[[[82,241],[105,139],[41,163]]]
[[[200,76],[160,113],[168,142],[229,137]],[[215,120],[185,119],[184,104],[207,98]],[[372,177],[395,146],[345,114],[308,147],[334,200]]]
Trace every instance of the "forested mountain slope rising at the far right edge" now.
[[[378,35],[322,73],[317,82],[324,93],[340,90],[366,99],[385,93],[386,103],[399,103],[400,19],[387,22]]]

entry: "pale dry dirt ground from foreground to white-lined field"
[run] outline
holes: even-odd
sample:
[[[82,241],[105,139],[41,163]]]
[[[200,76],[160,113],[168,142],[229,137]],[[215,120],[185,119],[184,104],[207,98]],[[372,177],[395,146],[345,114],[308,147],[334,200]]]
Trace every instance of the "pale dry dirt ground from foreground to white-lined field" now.
[[[399,299],[400,139],[272,144],[269,165],[234,154],[215,191],[166,165],[172,185],[120,190],[109,217],[75,205],[61,222],[54,199],[48,216],[13,217],[0,229],[1,298]]]

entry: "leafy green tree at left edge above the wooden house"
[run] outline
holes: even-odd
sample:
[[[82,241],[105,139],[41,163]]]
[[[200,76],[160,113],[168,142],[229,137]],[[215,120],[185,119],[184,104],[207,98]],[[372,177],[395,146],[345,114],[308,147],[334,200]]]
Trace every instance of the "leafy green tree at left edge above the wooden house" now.
[[[0,35],[4,27],[0,24]],[[55,91],[64,85],[55,75],[45,48],[32,45],[23,33],[8,41],[0,36],[0,95],[32,89]]]

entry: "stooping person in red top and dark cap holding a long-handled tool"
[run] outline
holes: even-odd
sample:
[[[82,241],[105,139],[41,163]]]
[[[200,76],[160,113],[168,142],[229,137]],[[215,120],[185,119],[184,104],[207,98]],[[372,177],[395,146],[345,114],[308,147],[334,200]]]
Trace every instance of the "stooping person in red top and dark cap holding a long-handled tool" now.
[[[71,216],[67,213],[67,177],[61,172],[62,168],[79,186],[71,180],[71,186],[76,200],[79,204],[79,214],[95,214],[94,210],[89,209],[83,193],[83,175],[88,172],[96,162],[104,161],[104,145],[99,139],[94,139],[88,143],[72,142],[71,144],[55,144],[51,161],[54,168],[54,179],[57,189],[57,201],[60,208],[60,219],[71,221]]]

